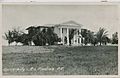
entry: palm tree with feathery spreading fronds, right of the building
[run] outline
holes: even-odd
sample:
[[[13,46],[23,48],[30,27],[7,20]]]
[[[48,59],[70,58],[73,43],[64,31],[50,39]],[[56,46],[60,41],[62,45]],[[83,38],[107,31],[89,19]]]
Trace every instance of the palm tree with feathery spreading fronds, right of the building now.
[[[104,28],[99,28],[99,31],[97,32],[96,36],[97,36],[97,40],[100,43],[100,46],[102,44],[102,42],[105,41],[105,39],[107,38],[107,34],[108,31],[106,31]],[[106,42],[106,41],[105,41]]]

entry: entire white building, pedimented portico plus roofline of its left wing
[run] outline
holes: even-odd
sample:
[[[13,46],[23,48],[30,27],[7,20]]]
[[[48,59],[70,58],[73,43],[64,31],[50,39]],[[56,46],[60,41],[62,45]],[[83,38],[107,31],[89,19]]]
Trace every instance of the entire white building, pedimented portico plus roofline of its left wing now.
[[[67,21],[61,24],[45,24],[42,26],[37,26],[37,28],[40,28],[40,31],[43,28],[49,28],[52,27],[54,33],[57,34],[59,38],[61,38],[61,42],[58,42],[58,44],[63,44],[63,45],[81,45],[81,29],[82,29],[81,24],[76,23],[75,21]],[[31,29],[34,29],[35,27],[29,27],[27,28],[28,33],[30,33]],[[71,35],[72,34],[72,38]]]

